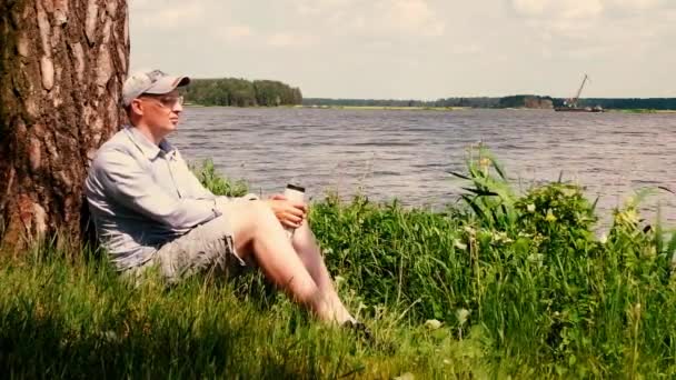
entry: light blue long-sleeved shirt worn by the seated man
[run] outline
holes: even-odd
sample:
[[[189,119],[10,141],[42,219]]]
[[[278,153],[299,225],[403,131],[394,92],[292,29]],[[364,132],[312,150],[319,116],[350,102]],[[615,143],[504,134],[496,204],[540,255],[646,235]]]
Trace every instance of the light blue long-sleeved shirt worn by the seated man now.
[[[201,186],[179,151],[133,127],[97,152],[84,192],[101,244],[118,270],[140,266],[169,240],[216,217],[226,197]]]

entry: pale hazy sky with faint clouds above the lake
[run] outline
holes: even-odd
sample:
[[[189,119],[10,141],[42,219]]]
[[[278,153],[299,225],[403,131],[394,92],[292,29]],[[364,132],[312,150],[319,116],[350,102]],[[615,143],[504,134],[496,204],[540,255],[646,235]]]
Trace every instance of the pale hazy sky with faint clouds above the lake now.
[[[676,0],[129,0],[131,69],[306,98],[676,97]]]

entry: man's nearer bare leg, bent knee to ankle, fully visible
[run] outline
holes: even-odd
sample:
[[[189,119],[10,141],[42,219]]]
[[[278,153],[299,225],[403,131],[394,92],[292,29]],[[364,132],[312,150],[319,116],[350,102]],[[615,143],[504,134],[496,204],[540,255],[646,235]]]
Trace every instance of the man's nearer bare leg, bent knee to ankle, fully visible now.
[[[326,299],[267,204],[233,201],[223,211],[229,216],[240,256],[254,254],[269,280],[294,301],[308,307],[319,319],[342,321],[339,319],[341,311],[336,311],[332,302]]]

